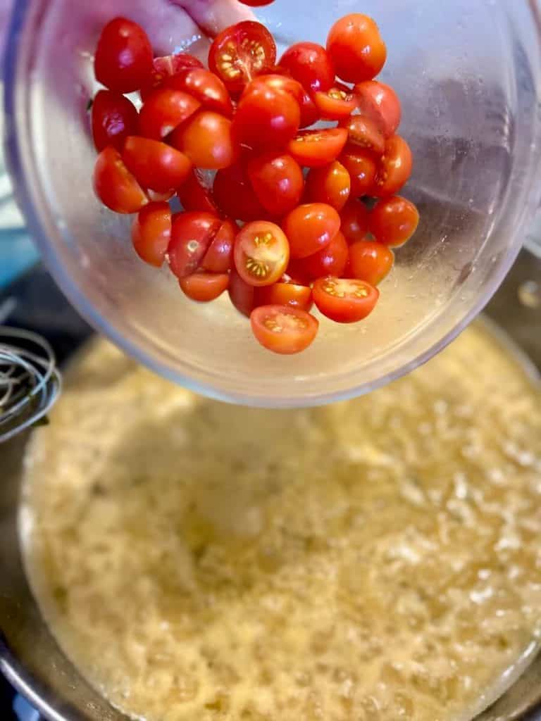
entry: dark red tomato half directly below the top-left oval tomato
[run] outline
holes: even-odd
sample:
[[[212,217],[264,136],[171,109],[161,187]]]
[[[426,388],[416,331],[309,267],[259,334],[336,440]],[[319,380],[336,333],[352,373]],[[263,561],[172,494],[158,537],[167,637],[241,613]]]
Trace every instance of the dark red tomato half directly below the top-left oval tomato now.
[[[92,103],[92,137],[98,152],[112,145],[121,150],[129,135],[137,132],[135,105],[118,92],[100,90]]]

